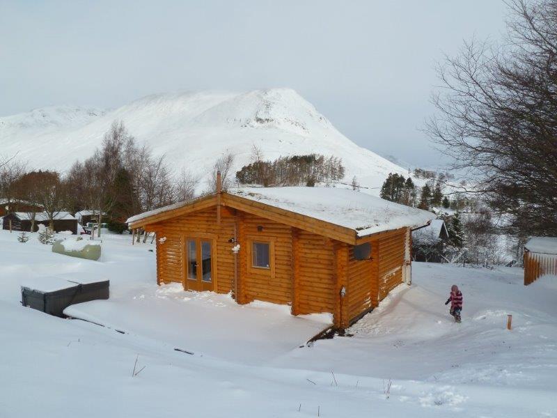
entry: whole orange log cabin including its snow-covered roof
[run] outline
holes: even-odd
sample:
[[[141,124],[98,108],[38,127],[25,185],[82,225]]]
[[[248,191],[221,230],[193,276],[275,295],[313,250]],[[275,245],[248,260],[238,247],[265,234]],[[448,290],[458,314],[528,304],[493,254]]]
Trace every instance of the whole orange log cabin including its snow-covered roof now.
[[[344,329],[410,284],[411,229],[434,217],[350,189],[244,187],[127,222],[156,233],[159,285],[329,312]]]

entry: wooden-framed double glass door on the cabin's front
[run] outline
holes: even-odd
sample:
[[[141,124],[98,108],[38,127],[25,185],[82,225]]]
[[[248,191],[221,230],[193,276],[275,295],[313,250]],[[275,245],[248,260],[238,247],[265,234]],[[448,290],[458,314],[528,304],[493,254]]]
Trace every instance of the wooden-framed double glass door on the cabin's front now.
[[[186,239],[186,284],[189,291],[213,290],[212,241]]]

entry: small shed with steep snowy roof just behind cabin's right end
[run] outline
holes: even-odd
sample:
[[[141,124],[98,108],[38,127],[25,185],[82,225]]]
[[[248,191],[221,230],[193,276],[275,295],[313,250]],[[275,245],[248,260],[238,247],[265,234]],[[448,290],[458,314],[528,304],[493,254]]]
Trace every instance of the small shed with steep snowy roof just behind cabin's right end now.
[[[429,225],[412,232],[412,258],[414,261],[442,263],[448,230],[443,219],[433,219]]]

